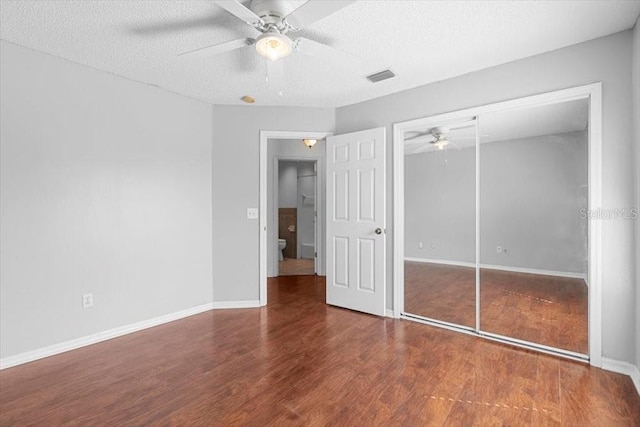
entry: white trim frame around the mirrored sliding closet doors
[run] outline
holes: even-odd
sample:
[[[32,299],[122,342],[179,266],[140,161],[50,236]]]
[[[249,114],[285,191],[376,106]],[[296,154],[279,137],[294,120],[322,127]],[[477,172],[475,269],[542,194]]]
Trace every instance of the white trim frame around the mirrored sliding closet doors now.
[[[478,107],[467,108],[451,113],[444,113],[424,117],[415,120],[395,123],[393,125],[393,311],[394,317],[404,315],[404,133],[420,126],[433,122],[451,121],[468,117],[479,119],[481,126],[482,114],[512,110],[526,107],[535,107],[578,99],[589,100],[589,126],[588,126],[588,185],[589,201],[588,209],[591,211],[602,208],[602,83],[593,83],[541,93],[532,96],[486,104]],[[478,129],[478,128],[476,128]],[[478,132],[478,130],[476,130]],[[478,159],[476,159],[476,163]],[[477,165],[476,165],[477,166]],[[477,169],[477,167],[476,167]],[[476,170],[476,174],[479,171]],[[477,180],[476,180],[477,185]],[[476,196],[477,197],[477,196]],[[476,201],[477,203],[477,201]],[[477,217],[476,217],[477,220]],[[602,367],[602,224],[600,221],[589,221],[588,240],[588,340],[589,363]],[[477,233],[477,230],[476,230]],[[476,239],[476,246],[479,244]],[[477,257],[477,253],[476,253]],[[476,299],[480,295],[476,292]],[[477,307],[477,305],[476,305]],[[443,326],[443,325],[440,325]],[[446,325],[443,327],[447,327]],[[452,328],[459,330],[458,328]],[[475,329],[475,328],[474,328]],[[460,332],[464,332],[460,330]],[[477,336],[492,339],[478,332],[467,332]],[[511,344],[518,345],[517,342]],[[526,344],[522,344],[531,348]],[[548,352],[537,348],[542,352]],[[552,354],[553,352],[549,352]]]

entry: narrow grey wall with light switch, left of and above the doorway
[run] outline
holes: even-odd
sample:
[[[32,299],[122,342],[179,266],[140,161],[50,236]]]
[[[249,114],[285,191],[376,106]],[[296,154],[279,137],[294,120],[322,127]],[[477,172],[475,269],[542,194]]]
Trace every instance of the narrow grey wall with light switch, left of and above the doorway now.
[[[334,128],[335,111],[330,108],[213,106],[216,302],[259,300],[260,227],[257,220],[247,219],[246,209],[259,206],[260,131],[332,132]],[[273,188],[273,176],[268,185]]]

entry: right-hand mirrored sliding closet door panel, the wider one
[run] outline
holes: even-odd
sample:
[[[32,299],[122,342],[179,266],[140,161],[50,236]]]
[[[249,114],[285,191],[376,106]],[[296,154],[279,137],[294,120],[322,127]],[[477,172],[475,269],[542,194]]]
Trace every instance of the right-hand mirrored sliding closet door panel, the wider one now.
[[[588,100],[480,116],[480,329],[586,354]]]

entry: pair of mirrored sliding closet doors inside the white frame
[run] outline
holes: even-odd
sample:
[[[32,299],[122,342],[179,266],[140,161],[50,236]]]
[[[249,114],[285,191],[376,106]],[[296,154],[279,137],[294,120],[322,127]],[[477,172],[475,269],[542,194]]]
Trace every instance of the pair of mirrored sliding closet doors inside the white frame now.
[[[572,95],[399,126],[402,317],[588,359],[589,118]]]

